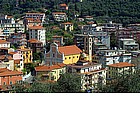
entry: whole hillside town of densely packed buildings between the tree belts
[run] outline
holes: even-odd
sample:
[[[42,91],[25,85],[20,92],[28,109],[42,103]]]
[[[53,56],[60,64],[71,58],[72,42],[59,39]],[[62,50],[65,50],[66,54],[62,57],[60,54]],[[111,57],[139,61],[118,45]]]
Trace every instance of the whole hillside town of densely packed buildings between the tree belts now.
[[[82,2],[82,1],[79,1]],[[93,16],[69,18],[69,6],[57,11],[27,12],[18,19],[0,14],[0,91],[15,84],[57,82],[64,73],[77,73],[81,91],[94,92],[121,75],[140,68],[140,24]]]

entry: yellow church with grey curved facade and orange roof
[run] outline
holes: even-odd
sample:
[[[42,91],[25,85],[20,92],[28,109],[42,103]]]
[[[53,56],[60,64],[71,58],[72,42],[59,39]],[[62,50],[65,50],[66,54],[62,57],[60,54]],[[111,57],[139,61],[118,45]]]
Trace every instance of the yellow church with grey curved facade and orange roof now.
[[[58,47],[56,43],[52,43],[50,51],[46,53],[46,63],[48,65],[58,63],[73,64],[79,60],[81,52],[76,45]]]

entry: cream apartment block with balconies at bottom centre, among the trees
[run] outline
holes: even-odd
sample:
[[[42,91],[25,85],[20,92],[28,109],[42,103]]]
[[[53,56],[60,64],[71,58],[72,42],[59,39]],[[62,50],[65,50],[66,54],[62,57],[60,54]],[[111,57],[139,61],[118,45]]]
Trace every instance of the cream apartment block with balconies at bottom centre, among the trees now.
[[[99,63],[79,60],[75,64],[67,65],[68,72],[78,73],[81,76],[81,89],[95,90],[97,84],[106,84],[106,69]]]

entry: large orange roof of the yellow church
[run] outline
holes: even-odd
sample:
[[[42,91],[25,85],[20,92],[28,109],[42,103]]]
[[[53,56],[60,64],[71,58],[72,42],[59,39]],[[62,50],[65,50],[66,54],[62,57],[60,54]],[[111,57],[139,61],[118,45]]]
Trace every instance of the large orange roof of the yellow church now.
[[[82,52],[76,45],[59,47],[58,50],[64,55],[80,54]]]

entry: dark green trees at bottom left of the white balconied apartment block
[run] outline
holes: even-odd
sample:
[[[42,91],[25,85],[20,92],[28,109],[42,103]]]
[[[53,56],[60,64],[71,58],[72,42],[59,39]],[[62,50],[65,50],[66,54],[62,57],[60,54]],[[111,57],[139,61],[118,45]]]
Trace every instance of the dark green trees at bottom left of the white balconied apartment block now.
[[[16,93],[77,93],[81,90],[81,79],[77,74],[65,73],[57,82],[42,82],[35,79],[32,85],[28,83],[16,84]]]

